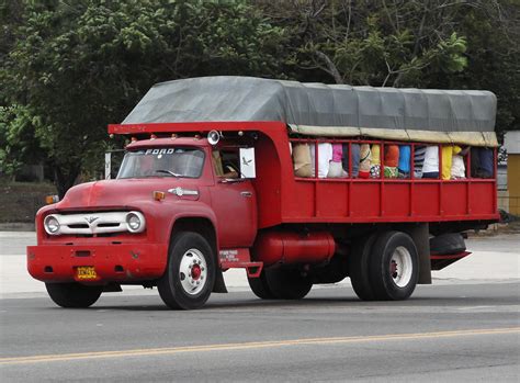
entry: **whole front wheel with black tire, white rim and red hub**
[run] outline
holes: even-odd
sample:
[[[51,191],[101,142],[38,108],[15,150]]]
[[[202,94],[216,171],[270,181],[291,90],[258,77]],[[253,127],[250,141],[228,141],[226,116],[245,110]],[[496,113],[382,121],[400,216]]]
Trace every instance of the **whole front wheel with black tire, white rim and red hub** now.
[[[215,256],[197,233],[181,232],[172,238],[168,264],[157,289],[173,309],[199,308],[208,300],[215,283]]]

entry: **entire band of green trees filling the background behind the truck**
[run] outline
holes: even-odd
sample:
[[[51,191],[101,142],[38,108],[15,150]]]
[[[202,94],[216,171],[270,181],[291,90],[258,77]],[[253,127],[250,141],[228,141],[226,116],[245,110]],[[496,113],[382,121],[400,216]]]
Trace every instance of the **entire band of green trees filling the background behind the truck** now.
[[[106,124],[156,82],[239,75],[488,89],[519,126],[518,0],[10,0],[0,166],[44,158],[59,193],[102,173]]]

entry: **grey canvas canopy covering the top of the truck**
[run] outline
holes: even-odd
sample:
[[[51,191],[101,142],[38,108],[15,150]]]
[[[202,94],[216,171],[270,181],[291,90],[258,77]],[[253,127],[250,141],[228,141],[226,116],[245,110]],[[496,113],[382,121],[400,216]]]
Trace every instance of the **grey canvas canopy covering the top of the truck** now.
[[[351,87],[251,77],[155,85],[123,124],[281,121],[292,133],[496,146],[488,91]]]

